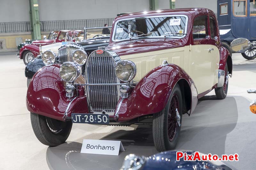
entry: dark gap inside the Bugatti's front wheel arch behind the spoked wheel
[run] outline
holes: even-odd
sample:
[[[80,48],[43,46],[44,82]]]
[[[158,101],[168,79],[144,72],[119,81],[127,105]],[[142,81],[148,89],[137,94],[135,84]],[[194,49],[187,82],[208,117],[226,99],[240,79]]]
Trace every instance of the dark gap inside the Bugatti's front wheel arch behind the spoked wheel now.
[[[188,113],[191,109],[191,89],[190,85],[184,78],[180,79],[177,84],[180,86],[182,94],[182,114]]]

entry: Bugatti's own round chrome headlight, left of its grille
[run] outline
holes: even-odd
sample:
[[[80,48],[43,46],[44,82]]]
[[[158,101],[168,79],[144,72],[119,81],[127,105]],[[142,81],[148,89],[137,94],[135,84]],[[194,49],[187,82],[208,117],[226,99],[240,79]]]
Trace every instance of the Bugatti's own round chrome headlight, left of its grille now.
[[[77,63],[65,62],[60,66],[60,77],[66,82],[75,81],[82,73],[82,68]]]

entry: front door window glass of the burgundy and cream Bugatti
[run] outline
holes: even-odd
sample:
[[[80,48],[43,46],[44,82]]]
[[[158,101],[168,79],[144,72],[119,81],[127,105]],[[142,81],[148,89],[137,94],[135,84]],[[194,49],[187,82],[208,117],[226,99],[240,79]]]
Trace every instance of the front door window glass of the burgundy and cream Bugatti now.
[[[208,26],[207,26],[207,16],[199,16],[194,20],[193,24],[193,38],[194,40],[196,39],[201,39],[201,38],[206,38],[208,35]]]

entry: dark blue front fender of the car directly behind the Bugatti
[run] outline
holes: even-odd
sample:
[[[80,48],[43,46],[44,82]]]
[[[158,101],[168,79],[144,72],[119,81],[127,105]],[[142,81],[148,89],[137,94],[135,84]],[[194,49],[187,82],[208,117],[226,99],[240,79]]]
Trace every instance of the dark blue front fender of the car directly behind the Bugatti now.
[[[41,68],[43,68],[44,66],[45,64],[42,58],[34,58],[30,62],[28,62],[28,64],[26,65],[25,76],[27,78],[32,78],[34,74],[36,74],[36,72]]]

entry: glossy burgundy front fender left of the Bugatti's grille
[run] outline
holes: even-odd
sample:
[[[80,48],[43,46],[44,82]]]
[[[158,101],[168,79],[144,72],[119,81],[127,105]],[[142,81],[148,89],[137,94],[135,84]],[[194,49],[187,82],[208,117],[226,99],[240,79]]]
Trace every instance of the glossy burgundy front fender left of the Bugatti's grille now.
[[[66,83],[60,78],[59,70],[60,64],[53,64],[36,72],[28,85],[28,111],[60,121],[64,121],[64,114],[70,117],[71,113],[89,113],[86,96],[66,97]]]

